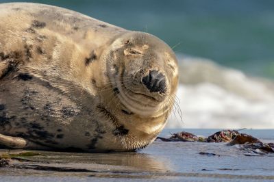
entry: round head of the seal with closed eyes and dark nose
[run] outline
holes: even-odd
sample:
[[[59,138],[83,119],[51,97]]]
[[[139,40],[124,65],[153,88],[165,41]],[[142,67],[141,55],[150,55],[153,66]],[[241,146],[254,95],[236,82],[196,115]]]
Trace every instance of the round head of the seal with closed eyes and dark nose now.
[[[112,87],[129,111],[158,117],[171,109],[177,88],[177,59],[151,34],[131,31],[115,38],[104,59]]]

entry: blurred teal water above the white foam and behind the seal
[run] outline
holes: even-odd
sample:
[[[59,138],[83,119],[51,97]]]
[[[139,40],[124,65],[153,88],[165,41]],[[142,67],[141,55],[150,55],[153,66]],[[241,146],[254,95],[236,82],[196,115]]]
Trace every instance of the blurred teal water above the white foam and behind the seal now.
[[[23,0],[26,1],[26,0]],[[0,0],[3,2],[12,2]],[[176,53],[206,57],[250,75],[274,78],[274,1],[29,1],[148,31]]]

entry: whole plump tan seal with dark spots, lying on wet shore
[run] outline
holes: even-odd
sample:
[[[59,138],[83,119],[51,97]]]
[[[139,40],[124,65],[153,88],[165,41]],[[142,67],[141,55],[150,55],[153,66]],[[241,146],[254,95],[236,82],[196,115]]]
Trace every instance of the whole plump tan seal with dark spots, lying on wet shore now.
[[[2,146],[135,151],[164,128],[178,73],[162,40],[51,5],[0,17]]]

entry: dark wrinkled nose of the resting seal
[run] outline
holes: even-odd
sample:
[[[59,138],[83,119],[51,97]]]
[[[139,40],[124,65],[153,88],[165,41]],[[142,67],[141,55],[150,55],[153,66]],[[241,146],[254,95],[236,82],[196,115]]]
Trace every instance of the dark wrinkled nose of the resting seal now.
[[[166,92],[166,77],[158,70],[149,70],[149,74],[142,77],[142,83],[149,92]]]

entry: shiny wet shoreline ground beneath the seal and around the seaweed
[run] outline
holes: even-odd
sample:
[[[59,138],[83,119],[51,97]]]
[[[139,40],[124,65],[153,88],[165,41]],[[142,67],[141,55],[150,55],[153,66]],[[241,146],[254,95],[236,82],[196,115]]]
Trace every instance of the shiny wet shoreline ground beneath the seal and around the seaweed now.
[[[186,131],[210,135],[219,130]],[[274,142],[273,131],[244,132]],[[173,132],[175,130],[164,130],[161,135]],[[200,155],[200,152],[216,155]],[[245,156],[237,146],[224,143],[155,141],[138,153],[41,153],[45,156],[29,157],[36,162],[12,164],[73,168],[75,171],[0,168],[0,181],[274,181],[274,155]]]

